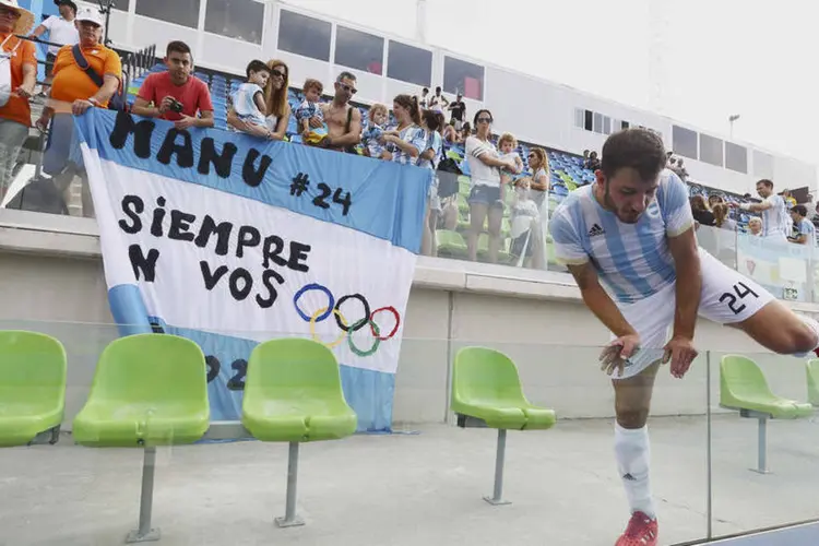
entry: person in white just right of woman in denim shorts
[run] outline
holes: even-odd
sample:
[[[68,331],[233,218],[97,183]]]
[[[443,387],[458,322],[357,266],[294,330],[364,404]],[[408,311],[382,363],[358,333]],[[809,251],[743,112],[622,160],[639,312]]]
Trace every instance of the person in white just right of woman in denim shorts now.
[[[532,199],[531,185],[531,178],[521,178],[514,185],[510,253],[525,268],[545,269],[543,223],[539,206]]]

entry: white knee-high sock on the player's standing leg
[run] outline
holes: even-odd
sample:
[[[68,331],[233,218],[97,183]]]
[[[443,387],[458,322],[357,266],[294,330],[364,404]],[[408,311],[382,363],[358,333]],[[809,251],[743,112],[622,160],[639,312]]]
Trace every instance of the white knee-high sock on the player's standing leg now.
[[[649,518],[656,518],[649,482],[649,428],[628,429],[615,423],[615,455],[631,512],[640,511]]]

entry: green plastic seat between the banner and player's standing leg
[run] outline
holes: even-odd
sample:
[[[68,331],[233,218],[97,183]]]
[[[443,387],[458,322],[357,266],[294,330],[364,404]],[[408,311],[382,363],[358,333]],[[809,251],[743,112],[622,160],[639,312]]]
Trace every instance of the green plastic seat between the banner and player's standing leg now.
[[[452,370],[452,411],[483,419],[491,428],[513,430],[543,430],[556,420],[553,410],[526,400],[514,363],[484,347],[458,352]]]

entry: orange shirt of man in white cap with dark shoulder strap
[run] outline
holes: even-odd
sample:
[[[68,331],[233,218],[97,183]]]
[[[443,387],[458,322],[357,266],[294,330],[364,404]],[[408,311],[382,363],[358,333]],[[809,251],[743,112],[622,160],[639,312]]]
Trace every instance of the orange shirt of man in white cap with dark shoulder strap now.
[[[80,67],[74,62],[74,54],[71,52],[73,46],[62,46],[57,51],[57,58],[54,61],[54,81],[51,82],[51,98],[64,103],[73,103],[78,99],[86,99],[96,95],[99,87],[88,78]],[[102,44],[94,47],[83,47],[83,56],[88,61],[88,67],[93,68],[97,74],[105,78],[106,74],[116,75],[122,81],[122,63],[119,55],[108,49]],[[100,103],[103,108],[108,103]]]

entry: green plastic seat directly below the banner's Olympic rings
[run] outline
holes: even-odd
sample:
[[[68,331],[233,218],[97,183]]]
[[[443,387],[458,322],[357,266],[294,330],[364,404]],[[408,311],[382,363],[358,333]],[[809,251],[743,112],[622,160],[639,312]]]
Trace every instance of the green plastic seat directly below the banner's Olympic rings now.
[[[262,441],[336,440],[356,430],[333,353],[312,340],[257,345],[245,379],[241,423]]]

